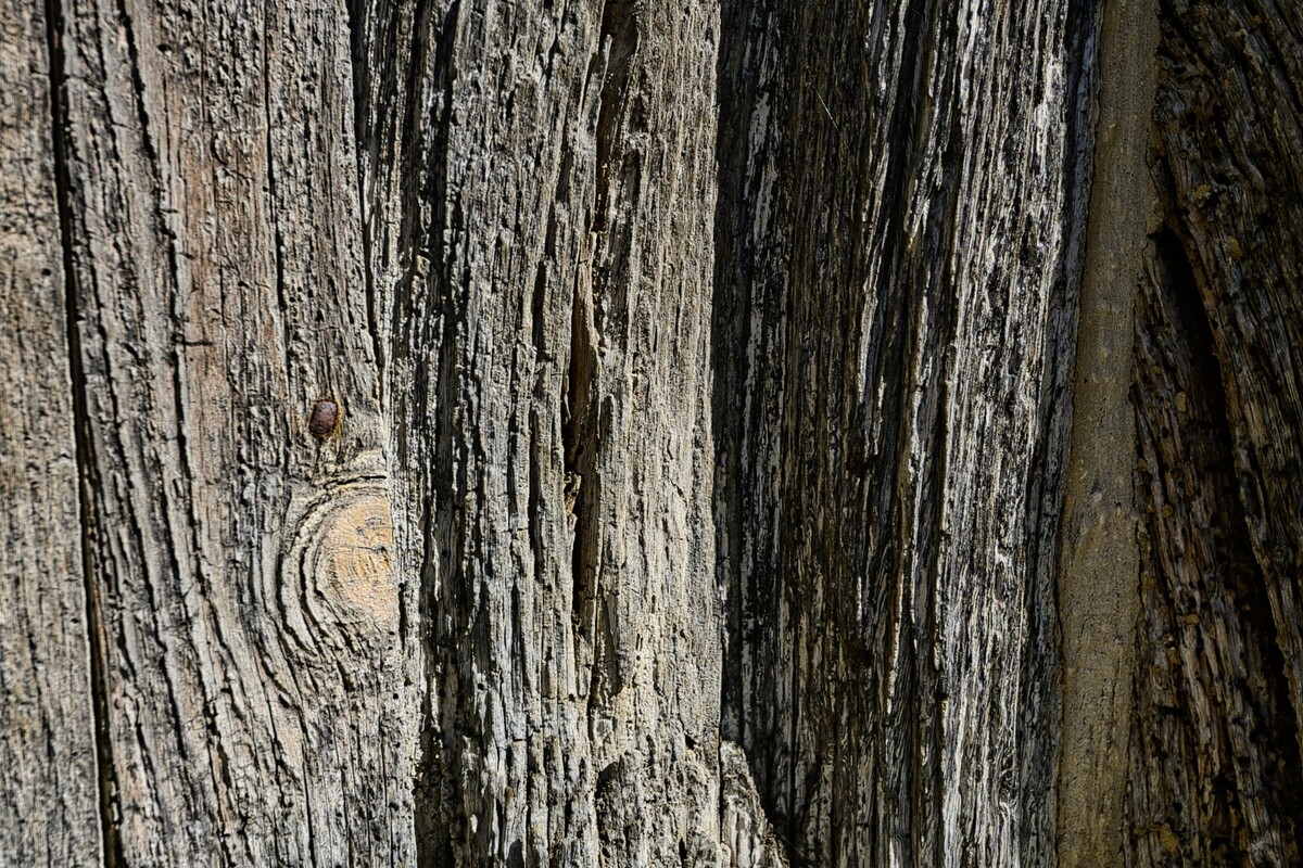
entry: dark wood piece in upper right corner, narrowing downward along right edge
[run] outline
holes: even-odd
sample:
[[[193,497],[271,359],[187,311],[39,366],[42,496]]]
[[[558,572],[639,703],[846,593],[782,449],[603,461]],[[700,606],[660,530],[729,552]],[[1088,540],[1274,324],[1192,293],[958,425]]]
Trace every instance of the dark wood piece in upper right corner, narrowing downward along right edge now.
[[[1290,436],[1303,431],[1303,9],[1162,10],[1154,170],[1221,362],[1250,539],[1303,721],[1303,439]]]

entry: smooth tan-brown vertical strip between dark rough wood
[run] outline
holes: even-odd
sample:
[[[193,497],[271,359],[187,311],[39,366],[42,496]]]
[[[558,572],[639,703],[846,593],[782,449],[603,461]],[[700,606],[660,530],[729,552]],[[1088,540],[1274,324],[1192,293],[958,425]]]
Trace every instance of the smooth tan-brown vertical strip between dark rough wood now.
[[[1058,579],[1062,868],[1117,864],[1123,846],[1122,799],[1140,612],[1131,487],[1136,455],[1131,345],[1136,282],[1154,211],[1144,160],[1157,40],[1152,0],[1106,4]]]

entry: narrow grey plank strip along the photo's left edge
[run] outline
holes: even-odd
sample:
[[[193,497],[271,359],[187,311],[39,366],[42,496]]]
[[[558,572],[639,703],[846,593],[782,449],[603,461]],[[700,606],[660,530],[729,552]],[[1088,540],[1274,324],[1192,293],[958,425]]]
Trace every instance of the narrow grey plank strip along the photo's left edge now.
[[[47,10],[0,3],[0,861],[102,861]]]

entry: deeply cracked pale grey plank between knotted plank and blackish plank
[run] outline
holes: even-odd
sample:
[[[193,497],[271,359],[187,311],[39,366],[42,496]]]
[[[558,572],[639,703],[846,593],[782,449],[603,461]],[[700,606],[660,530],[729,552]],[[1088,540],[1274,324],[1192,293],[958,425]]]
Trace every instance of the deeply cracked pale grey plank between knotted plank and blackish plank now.
[[[719,860],[710,4],[370,3],[430,864]]]

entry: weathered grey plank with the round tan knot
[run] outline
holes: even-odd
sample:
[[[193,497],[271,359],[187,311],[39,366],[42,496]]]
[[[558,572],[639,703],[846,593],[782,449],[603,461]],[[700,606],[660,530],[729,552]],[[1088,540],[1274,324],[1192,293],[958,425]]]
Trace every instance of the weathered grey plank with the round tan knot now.
[[[345,21],[64,8],[115,864],[416,858]]]

